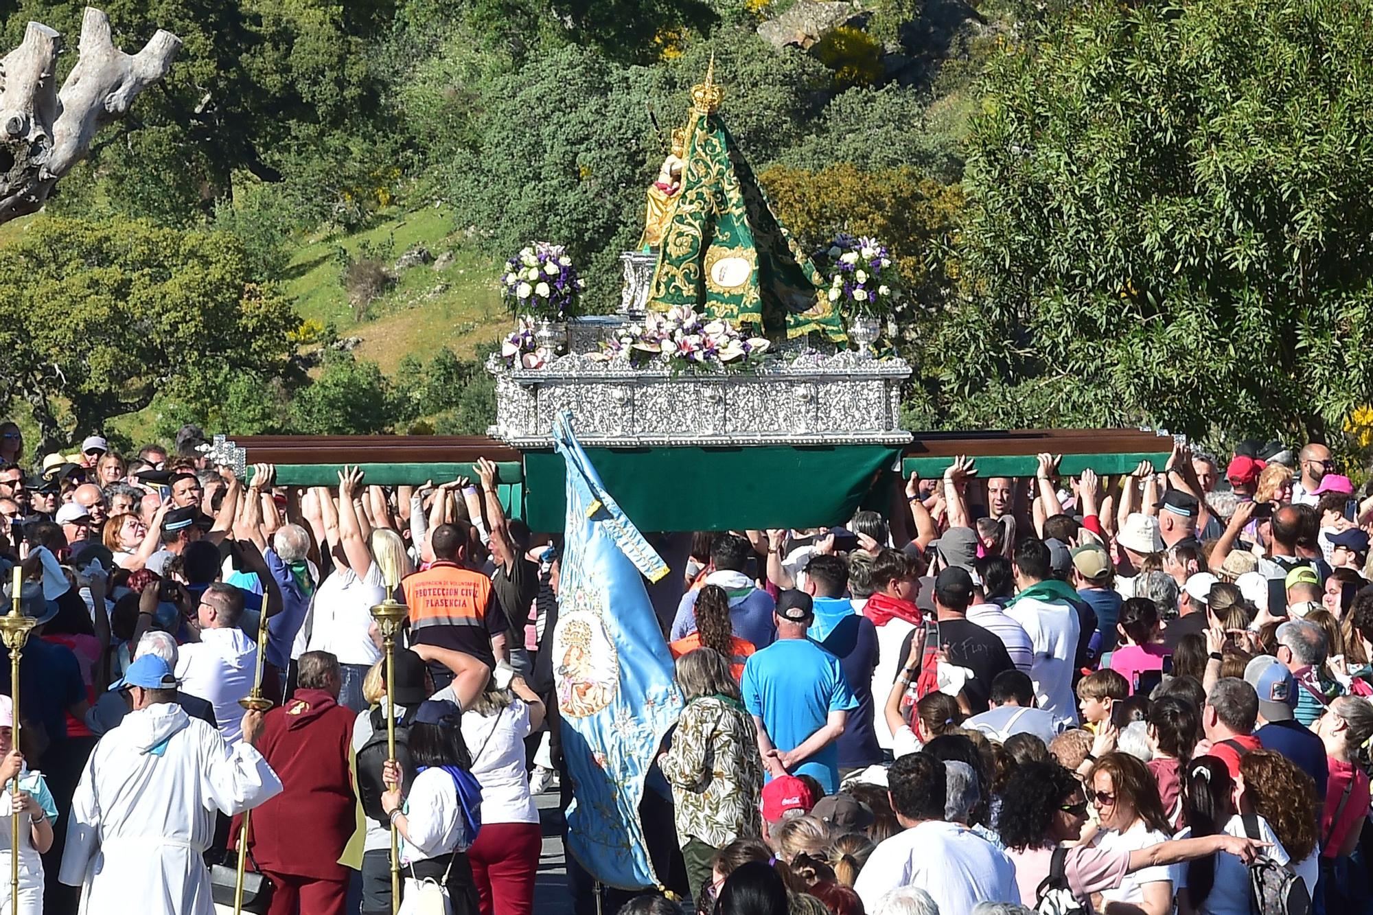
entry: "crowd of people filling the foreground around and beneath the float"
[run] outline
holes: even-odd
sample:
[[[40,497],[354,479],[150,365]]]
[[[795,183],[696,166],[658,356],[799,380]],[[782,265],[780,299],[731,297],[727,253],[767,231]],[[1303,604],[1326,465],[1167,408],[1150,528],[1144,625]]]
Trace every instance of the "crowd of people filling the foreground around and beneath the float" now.
[[[507,517],[486,460],[290,488],[202,442],[30,460],[0,426],[37,624],[0,701],[21,911],[213,911],[246,835],[253,911],[379,915],[391,827],[402,911],[560,905],[534,897],[534,798],[575,795],[560,537]],[[651,534],[689,555],[654,591],[685,701],[640,804],[660,885],[568,860],[573,905],[1368,912],[1370,522],[1324,445],[1245,442],[1107,479],[958,459],[843,528]]]

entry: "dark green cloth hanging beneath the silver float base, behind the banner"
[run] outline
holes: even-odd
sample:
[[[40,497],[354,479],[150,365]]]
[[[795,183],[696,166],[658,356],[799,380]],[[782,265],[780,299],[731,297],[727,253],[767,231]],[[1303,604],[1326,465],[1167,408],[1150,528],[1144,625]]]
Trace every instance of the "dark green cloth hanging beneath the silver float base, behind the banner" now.
[[[640,530],[740,530],[846,523],[895,467],[899,445],[588,448],[605,490]],[[564,466],[524,453],[526,521],[562,530]]]

